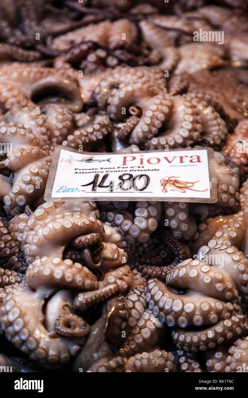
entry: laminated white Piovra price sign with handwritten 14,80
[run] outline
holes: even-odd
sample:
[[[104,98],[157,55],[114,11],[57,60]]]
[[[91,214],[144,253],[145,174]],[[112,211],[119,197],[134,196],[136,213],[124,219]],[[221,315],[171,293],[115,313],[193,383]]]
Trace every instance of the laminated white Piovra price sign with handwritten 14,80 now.
[[[132,154],[55,147],[46,201],[217,201],[212,148]]]

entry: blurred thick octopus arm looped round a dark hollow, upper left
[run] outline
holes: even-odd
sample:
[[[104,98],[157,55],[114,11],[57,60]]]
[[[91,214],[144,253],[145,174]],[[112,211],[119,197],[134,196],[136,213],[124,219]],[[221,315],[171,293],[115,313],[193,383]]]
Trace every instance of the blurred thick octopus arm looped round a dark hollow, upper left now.
[[[13,68],[12,71],[7,64],[0,68],[2,111],[35,105],[45,109],[49,103],[67,105],[74,112],[82,109],[78,82],[72,76],[54,68],[19,62],[14,62]]]

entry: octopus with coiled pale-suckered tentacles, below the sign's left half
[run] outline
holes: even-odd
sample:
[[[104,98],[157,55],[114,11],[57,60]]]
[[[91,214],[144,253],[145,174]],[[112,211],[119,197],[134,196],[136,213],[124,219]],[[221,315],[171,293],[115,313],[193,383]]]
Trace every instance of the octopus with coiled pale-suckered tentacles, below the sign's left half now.
[[[68,245],[70,240],[73,240],[73,238],[77,236],[81,236],[81,238],[76,238],[75,244],[76,246],[83,246],[85,264],[88,264],[88,266],[92,265],[93,269],[99,268],[101,265],[103,265],[103,267],[104,265],[107,266],[107,264],[111,264],[111,268],[117,267],[121,264],[121,258],[125,258],[125,252],[123,249],[118,249],[115,244],[111,244],[111,238],[108,237],[108,242],[100,244],[100,251],[97,250],[95,253],[98,254],[97,257],[100,257],[100,263],[94,266],[94,260],[90,253],[91,242],[89,238],[91,238],[91,235],[88,238],[86,230],[88,230],[88,232],[91,230],[93,239],[96,235],[99,236],[99,238],[103,238],[102,224],[100,220],[96,218],[96,215],[93,215],[97,213],[96,210],[94,210],[96,207],[94,203],[83,206],[83,209],[88,209],[92,215],[76,212],[76,210],[79,209],[75,204],[70,205],[68,203],[65,206],[62,205],[62,207],[61,205],[55,206],[54,204],[52,204],[52,206],[42,206],[43,207],[38,208],[31,216],[25,219],[26,227],[20,225],[18,220],[20,216],[17,216],[17,220],[12,220],[13,222],[9,226],[10,231],[16,229],[15,226],[17,226],[17,239],[20,240],[22,236],[23,253],[29,265],[23,283],[19,283],[16,287],[14,286],[14,290],[11,290],[11,293],[4,297],[2,301],[0,324],[6,336],[8,336],[13,343],[16,339],[19,339],[18,341],[20,341],[20,344],[15,343],[15,345],[21,347],[24,352],[28,352],[31,359],[33,358],[36,361],[40,361],[43,366],[49,367],[51,364],[60,365],[65,363],[70,360],[71,355],[76,355],[83,343],[81,338],[86,336],[90,330],[87,322],[71,312],[70,308],[74,305],[73,303],[75,302],[76,308],[79,307],[80,310],[82,310],[82,308],[86,308],[84,303],[87,307],[92,306],[94,303],[102,301],[106,297],[109,297],[109,295],[116,293],[119,289],[119,285],[113,283],[106,283],[105,286],[104,283],[102,283],[104,287],[98,289],[97,277],[86,266],[80,263],[73,263],[71,259],[62,259],[64,248]],[[49,213],[47,213],[46,209]],[[63,215],[59,215],[62,209]],[[72,213],[65,211],[70,209]],[[59,215],[64,220],[59,219],[59,217],[55,217],[53,220],[53,215]],[[44,228],[42,220],[45,219],[47,221],[49,218],[51,224],[47,224],[46,222]],[[66,228],[64,231],[66,234],[64,235],[63,246],[61,246],[63,232],[61,235],[58,233],[59,231],[57,228],[62,225],[59,221],[64,225],[61,232]],[[40,224],[40,232],[37,228],[37,222]],[[25,224],[24,221],[23,224]],[[35,224],[37,225],[35,230],[33,230]],[[54,238],[56,237],[57,246],[55,240],[49,235],[49,230],[55,234]],[[40,257],[39,254],[41,255],[41,252],[39,252],[39,247],[44,239],[47,242],[47,256]],[[29,242],[32,241],[33,243],[30,245]],[[49,250],[49,242],[52,241],[53,244],[50,243]],[[37,246],[34,244],[35,242]],[[115,253],[117,254],[116,256]],[[50,255],[52,257],[49,257]],[[37,272],[39,275],[36,275]],[[53,273],[53,279],[51,279],[51,273]],[[109,281],[109,279],[111,279],[111,277],[107,275],[106,281]],[[129,279],[130,284],[132,278],[129,277]],[[127,287],[129,284],[126,283]],[[68,287],[70,287],[69,290]],[[71,288],[80,292],[78,295],[75,294],[74,298]],[[8,292],[10,292],[10,290],[8,290]],[[14,302],[14,307],[7,305],[9,297],[12,297],[11,303]],[[45,312],[42,314],[41,308],[43,308],[45,298],[47,298],[48,301]],[[27,301],[30,302],[32,308],[29,308],[25,304]],[[79,305],[77,303],[79,303]],[[53,310],[55,305],[57,307],[56,313]],[[13,315],[15,312],[17,316],[8,316],[7,314],[10,310],[12,310]],[[22,315],[21,318],[18,318],[20,312]],[[33,313],[36,314],[36,321],[30,322]],[[8,316],[8,320],[5,315]],[[12,324],[15,320],[16,324],[20,322],[20,328],[16,330],[18,335],[9,335],[9,331],[13,329]],[[43,322],[45,324],[45,329],[42,327]],[[27,333],[25,338],[23,334],[23,340],[19,337],[22,333]],[[66,343],[68,338],[70,342],[68,341]],[[70,338],[72,339],[70,340]],[[26,344],[23,345],[22,341],[26,341]]]

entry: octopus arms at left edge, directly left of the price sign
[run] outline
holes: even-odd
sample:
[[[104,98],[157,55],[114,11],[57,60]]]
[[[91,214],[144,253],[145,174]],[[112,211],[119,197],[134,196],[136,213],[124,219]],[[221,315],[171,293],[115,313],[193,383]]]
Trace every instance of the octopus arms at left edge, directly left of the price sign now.
[[[35,112],[30,112],[30,116],[37,119]],[[2,142],[12,142],[12,150],[2,160],[10,174],[8,177],[1,175],[1,181],[4,181],[1,199],[4,201],[6,213],[14,216],[25,205],[39,200],[45,191],[51,161],[47,150],[48,137],[35,135],[23,123],[8,124],[4,121],[0,122],[0,135]]]

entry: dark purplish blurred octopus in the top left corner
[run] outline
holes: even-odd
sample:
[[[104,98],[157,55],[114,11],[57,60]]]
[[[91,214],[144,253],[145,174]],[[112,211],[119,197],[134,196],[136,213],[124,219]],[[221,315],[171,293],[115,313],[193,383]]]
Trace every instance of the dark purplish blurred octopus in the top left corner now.
[[[51,47],[51,37],[103,19],[93,12],[93,15],[81,16],[77,20],[75,12],[51,3],[31,0],[1,3],[0,39],[4,42],[6,59],[30,62],[43,59],[44,56],[55,57],[58,51],[56,53]]]

